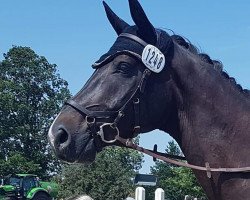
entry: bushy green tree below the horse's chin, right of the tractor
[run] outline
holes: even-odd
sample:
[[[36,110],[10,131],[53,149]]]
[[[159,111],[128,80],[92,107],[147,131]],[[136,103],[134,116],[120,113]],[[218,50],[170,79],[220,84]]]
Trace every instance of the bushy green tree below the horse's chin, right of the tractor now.
[[[60,197],[87,194],[95,200],[125,199],[134,193],[131,179],[141,168],[142,154],[119,147],[108,147],[89,166],[65,165]]]

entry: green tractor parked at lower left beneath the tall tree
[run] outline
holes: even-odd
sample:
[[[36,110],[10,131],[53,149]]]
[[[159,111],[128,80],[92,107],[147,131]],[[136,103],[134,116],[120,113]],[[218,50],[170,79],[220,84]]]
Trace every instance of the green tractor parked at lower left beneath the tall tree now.
[[[57,196],[56,183],[39,181],[34,174],[15,174],[0,181],[0,200],[52,200]]]

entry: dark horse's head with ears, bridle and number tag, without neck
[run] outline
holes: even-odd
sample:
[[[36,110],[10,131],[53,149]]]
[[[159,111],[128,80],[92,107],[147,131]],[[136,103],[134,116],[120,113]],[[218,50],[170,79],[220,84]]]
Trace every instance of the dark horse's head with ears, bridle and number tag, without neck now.
[[[93,75],[65,103],[50,127],[49,141],[62,160],[91,162],[103,147],[122,146],[117,135],[133,138],[139,132],[161,129],[174,112],[170,90],[173,40],[154,28],[137,0],[129,0],[129,5],[134,26],[104,2],[118,38],[93,64]]]

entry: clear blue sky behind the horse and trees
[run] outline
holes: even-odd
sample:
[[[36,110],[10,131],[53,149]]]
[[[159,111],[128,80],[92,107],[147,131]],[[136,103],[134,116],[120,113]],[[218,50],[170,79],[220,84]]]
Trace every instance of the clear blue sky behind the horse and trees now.
[[[250,88],[250,1],[141,0],[155,27],[173,30],[202,52],[223,62],[224,69],[244,88]],[[107,0],[125,21],[133,24],[127,0]],[[0,6],[0,59],[12,45],[31,47],[68,81],[75,94],[93,73],[91,64],[116,39],[102,1],[2,0]],[[170,137],[153,131],[141,137],[152,148],[164,150]],[[141,172],[149,172],[145,157]]]

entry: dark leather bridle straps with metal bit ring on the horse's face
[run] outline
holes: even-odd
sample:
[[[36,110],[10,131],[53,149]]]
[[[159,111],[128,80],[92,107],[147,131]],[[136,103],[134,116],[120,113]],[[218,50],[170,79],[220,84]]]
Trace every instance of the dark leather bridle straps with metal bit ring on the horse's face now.
[[[122,33],[119,35],[119,37],[125,37],[130,40],[136,41],[143,47],[147,45],[145,41],[129,33]],[[133,54],[139,59],[141,59],[141,55],[135,52],[130,52],[130,51],[125,51],[125,52]],[[150,74],[151,74],[151,71],[146,68],[142,74],[141,80],[138,82],[138,85],[135,91],[132,93],[131,97],[117,111],[92,111],[92,110],[87,109],[86,107],[79,105],[76,101],[73,100],[73,98],[65,102],[65,105],[71,106],[81,115],[85,116],[87,125],[93,137],[100,136],[101,140],[104,143],[110,144],[110,143],[116,142],[117,136],[119,136],[119,132],[120,132],[119,128],[117,127],[117,124],[121,120],[121,118],[124,117],[127,106],[131,102],[133,102],[134,116],[135,116],[133,137],[135,137],[136,135],[140,133],[140,128],[141,128],[140,127],[140,96],[144,92],[145,85]],[[113,121],[107,122],[107,119],[113,119]],[[102,121],[103,123],[100,127],[97,126],[98,121]]]

